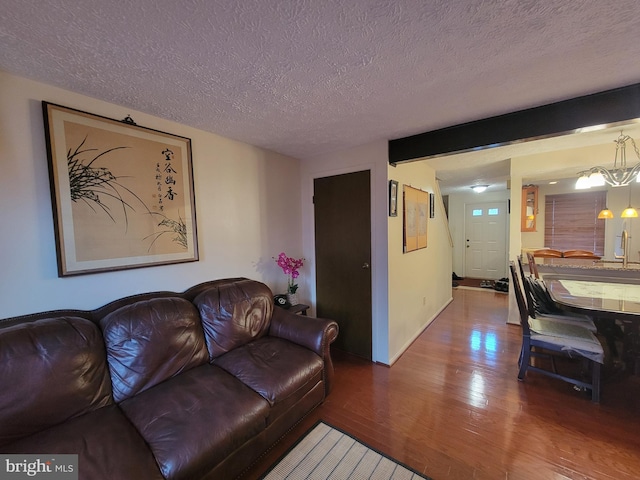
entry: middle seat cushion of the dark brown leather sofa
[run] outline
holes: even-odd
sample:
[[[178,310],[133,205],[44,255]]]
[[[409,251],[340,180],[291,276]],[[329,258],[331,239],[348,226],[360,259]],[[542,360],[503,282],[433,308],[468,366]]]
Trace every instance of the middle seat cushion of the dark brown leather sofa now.
[[[216,366],[182,372],[120,404],[162,474],[200,478],[266,427],[269,403]]]

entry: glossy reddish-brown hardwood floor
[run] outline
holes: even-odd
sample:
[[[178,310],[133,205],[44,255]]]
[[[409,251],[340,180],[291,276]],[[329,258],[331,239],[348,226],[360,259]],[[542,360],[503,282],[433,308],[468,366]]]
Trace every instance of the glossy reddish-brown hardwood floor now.
[[[508,296],[453,296],[391,368],[336,352],[333,392],[243,478],[318,419],[434,480],[640,478],[638,377],[605,369],[599,405],[539,374],[519,382]]]

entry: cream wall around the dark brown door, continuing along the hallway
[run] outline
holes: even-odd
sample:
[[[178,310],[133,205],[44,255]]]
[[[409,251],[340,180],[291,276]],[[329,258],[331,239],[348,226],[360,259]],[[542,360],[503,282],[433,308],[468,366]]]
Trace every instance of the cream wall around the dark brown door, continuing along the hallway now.
[[[388,144],[373,142],[303,161],[303,241],[313,258],[313,179],[371,171],[373,360],[392,364],[451,300],[451,246],[444,210],[428,223],[428,247],[402,253],[402,216],[388,215],[389,180],[433,192],[435,173],[420,162],[388,165]],[[402,195],[399,195],[399,212]],[[313,291],[313,285],[305,286]],[[315,292],[311,294],[315,299]]]

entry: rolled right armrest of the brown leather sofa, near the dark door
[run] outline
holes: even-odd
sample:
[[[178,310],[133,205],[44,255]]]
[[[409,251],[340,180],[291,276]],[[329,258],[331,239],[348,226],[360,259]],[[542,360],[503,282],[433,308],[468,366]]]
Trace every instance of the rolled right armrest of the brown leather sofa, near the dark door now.
[[[296,315],[284,308],[274,307],[269,335],[306,347],[322,357],[325,395],[328,395],[333,384],[330,345],[338,338],[338,324],[334,320]]]

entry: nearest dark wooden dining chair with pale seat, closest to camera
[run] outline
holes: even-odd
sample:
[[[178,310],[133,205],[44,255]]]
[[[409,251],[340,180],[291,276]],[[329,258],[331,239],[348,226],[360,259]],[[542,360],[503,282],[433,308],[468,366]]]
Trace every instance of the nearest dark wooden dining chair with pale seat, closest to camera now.
[[[543,318],[531,318],[527,310],[522,287],[516,273],[515,263],[509,264],[513,279],[513,292],[520,312],[522,326],[522,348],[518,359],[518,380],[524,381],[527,371],[533,371],[563,380],[577,387],[591,390],[591,401],[600,402],[600,365],[604,363],[604,349],[593,332],[586,328]],[[590,381],[558,373],[555,356],[583,358],[591,369]],[[532,365],[532,357],[551,360],[552,369]]]

